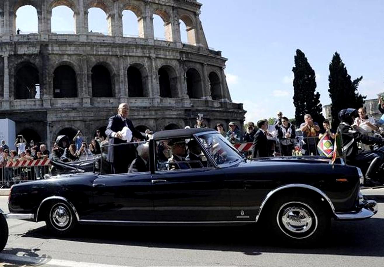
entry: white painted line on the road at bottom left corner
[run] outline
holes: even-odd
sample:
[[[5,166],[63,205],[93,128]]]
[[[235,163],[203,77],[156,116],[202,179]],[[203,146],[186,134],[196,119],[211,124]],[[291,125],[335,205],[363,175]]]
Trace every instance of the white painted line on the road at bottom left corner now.
[[[22,264],[33,264],[39,266],[55,266],[55,267],[127,267],[123,265],[111,265],[111,264],[100,264],[92,262],[75,262],[71,260],[56,260],[51,258],[37,258],[29,256],[17,256],[7,253],[0,254],[0,262],[7,263],[22,263]]]

